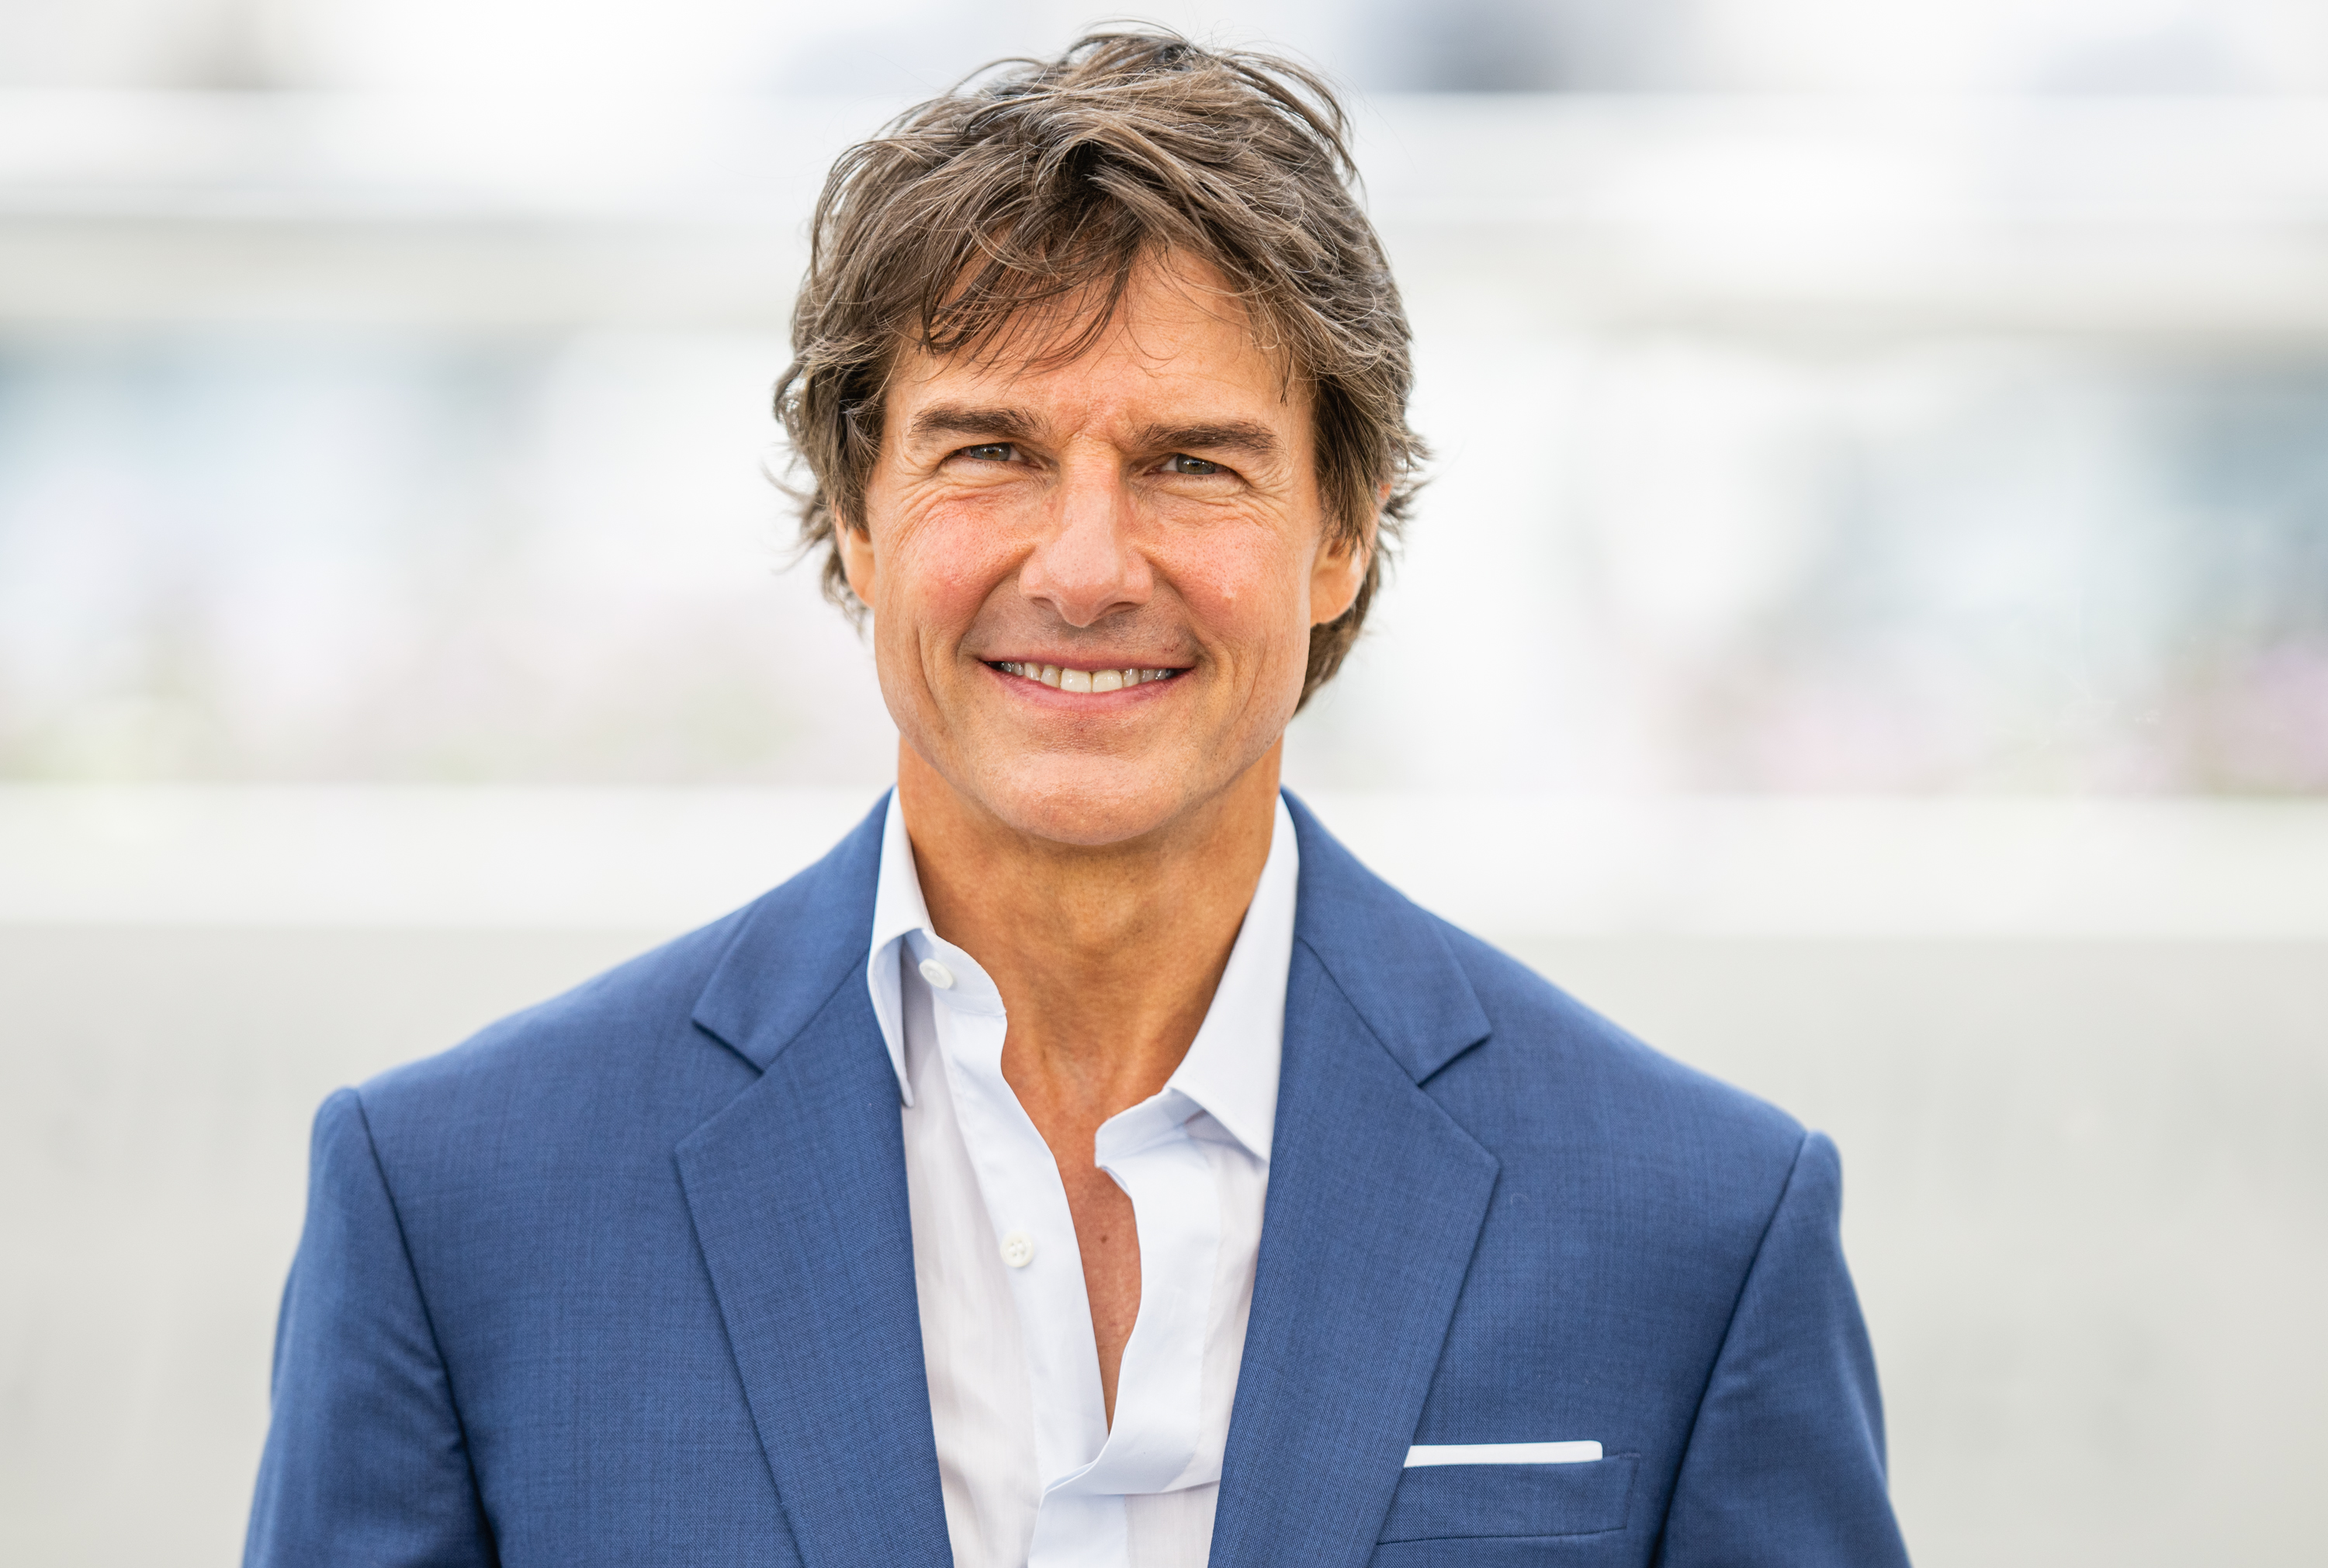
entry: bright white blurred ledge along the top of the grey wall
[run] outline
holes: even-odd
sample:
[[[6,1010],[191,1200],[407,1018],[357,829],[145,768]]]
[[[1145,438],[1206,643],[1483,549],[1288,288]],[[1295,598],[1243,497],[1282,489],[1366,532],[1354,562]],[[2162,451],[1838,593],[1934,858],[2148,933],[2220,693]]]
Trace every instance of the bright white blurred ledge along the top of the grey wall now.
[[[677,935],[873,789],[0,786],[0,926]],[[1499,940],[2328,940],[2328,803],[1306,796]]]

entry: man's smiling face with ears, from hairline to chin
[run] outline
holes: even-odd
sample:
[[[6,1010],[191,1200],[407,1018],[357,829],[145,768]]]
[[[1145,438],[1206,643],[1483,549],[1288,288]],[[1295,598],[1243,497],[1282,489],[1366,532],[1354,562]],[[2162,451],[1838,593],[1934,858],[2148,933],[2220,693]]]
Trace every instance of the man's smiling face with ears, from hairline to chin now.
[[[1276,744],[1308,628],[1348,610],[1311,405],[1211,275],[1143,270],[1106,333],[1027,321],[889,382],[850,586],[906,744],[1069,844],[1169,828]]]

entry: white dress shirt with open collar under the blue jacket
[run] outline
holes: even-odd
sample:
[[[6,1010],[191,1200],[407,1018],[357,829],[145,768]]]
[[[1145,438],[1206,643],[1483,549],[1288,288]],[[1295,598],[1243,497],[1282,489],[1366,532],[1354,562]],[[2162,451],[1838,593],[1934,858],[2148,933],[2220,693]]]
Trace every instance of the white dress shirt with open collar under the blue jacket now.
[[[1194,1045],[1155,1098],[1094,1140],[1141,1242],[1141,1312],[1110,1431],[1066,1186],[1003,1082],[1001,996],[929,928],[889,796],[866,982],[903,1096],[913,1277],[957,1568],[1206,1561],[1262,1242],[1297,856],[1278,800],[1269,861]]]

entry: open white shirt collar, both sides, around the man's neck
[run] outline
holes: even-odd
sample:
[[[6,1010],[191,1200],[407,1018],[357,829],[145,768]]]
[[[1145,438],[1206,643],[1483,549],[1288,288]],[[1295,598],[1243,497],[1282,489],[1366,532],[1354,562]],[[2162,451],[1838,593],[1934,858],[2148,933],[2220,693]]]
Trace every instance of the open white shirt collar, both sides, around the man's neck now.
[[[1278,1063],[1285,1054],[1285,977],[1294,956],[1294,891],[1301,884],[1301,847],[1285,798],[1276,800],[1269,861],[1252,889],[1252,903],[1236,928],[1236,945],[1220,972],[1213,1005],[1197,1040],[1164,1084],[1201,1105],[1236,1142],[1266,1161],[1278,1117]],[[880,1021],[896,1089],[913,1105],[906,1077],[906,998],[899,949],[915,933],[936,947],[922,877],[913,863],[913,840],[896,791],[882,821],[880,877],[873,891],[873,947],[866,954],[866,986]],[[927,952],[927,949],[924,949]]]

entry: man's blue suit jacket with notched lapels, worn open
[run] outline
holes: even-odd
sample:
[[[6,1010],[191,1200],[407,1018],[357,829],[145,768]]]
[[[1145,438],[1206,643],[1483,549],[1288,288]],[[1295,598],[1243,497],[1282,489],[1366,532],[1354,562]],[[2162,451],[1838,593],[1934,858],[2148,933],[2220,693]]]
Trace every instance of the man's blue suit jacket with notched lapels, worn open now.
[[[1292,817],[1213,1563],[1904,1563],[1832,1145]],[[247,1563],[950,1561],[880,826],[324,1103]],[[1576,1438],[1606,1459],[1401,1470]]]

